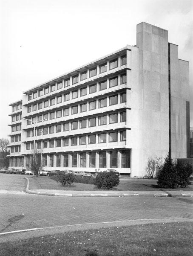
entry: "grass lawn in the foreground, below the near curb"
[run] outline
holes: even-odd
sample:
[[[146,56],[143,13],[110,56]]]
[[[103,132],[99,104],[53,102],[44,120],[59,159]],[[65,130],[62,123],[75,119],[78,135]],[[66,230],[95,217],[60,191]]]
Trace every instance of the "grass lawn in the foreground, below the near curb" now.
[[[2,243],[0,255],[190,256],[192,237],[191,222],[100,228]]]

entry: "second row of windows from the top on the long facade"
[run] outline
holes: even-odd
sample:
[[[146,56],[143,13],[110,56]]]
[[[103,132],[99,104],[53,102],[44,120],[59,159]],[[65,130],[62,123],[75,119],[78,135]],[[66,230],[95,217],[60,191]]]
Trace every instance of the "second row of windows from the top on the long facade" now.
[[[122,76],[122,83],[126,82],[126,75]],[[116,86],[118,85],[118,77],[111,79],[111,83],[110,83],[110,87]],[[107,88],[107,80],[100,82],[99,83],[99,90],[105,90]],[[97,84],[92,84],[89,86],[89,93],[95,93],[97,91]],[[87,87],[81,88],[80,89],[80,95],[79,95],[79,90],[74,90],[71,92],[71,99],[76,99],[79,96],[85,96],[87,95]],[[125,95],[126,97],[126,95]],[[42,108],[48,108],[48,106],[53,106],[55,104],[59,104],[62,102],[62,98],[64,102],[67,102],[68,100],[70,100],[70,93],[65,93],[64,95],[60,95],[57,97],[54,97],[52,99],[49,100],[45,100],[44,102],[39,102],[38,104],[34,104],[31,106],[28,106],[28,113],[30,113],[31,111],[37,111],[42,109]]]

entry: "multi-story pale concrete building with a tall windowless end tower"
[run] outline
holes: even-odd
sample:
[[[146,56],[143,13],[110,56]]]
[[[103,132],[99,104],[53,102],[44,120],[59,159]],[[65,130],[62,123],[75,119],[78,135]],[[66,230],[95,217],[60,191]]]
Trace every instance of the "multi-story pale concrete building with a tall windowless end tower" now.
[[[139,23],[135,46],[25,90],[22,109],[10,104],[10,166],[29,167],[34,136],[46,169],[140,177],[150,156],[187,157],[188,69],[167,30]]]

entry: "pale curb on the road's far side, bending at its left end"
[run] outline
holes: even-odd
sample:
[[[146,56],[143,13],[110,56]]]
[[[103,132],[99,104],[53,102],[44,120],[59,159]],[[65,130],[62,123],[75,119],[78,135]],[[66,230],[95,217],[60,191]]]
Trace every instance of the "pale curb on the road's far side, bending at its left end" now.
[[[123,193],[123,194],[77,194],[75,193],[51,193],[51,192],[39,192],[29,189],[29,180],[27,177],[26,193],[33,195],[49,195],[49,196],[65,196],[65,197],[193,197],[193,193]]]

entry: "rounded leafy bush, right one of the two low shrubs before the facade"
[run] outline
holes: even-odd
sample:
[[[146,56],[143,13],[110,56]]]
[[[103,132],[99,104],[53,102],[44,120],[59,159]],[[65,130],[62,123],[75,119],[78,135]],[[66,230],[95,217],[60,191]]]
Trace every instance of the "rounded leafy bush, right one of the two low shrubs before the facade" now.
[[[119,184],[119,176],[114,172],[99,172],[96,177],[96,186],[105,189],[112,189]]]

